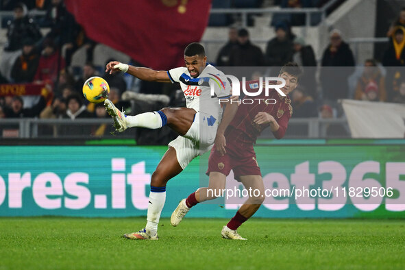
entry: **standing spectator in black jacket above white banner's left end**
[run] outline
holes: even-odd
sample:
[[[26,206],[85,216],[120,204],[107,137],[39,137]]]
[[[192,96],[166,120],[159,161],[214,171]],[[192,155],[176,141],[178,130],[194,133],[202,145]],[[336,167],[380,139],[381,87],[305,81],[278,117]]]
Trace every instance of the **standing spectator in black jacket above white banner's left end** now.
[[[336,101],[348,97],[347,78],[354,71],[354,57],[349,45],[343,41],[338,29],[330,33],[330,44],[323,52],[321,69],[321,86],[323,98]],[[326,66],[334,68],[325,68]],[[336,68],[345,66],[345,68]]]

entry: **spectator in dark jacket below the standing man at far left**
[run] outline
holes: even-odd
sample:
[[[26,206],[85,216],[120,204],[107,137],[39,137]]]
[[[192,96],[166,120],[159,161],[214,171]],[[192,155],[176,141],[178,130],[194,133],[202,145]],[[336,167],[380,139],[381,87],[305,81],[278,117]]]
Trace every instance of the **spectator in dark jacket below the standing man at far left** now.
[[[32,82],[38,69],[39,56],[34,49],[34,40],[27,38],[23,42],[23,53],[12,66],[11,77],[14,82]]]

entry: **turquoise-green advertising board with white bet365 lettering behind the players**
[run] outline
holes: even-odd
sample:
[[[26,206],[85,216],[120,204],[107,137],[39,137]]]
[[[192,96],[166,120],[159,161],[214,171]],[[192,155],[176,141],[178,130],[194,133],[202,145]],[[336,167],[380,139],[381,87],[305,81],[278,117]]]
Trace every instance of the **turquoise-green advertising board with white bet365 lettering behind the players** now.
[[[0,147],[0,216],[134,217],[167,147]],[[258,145],[266,199],[255,217],[405,217],[405,145]],[[162,217],[208,181],[209,154],[167,185]],[[201,179],[206,177],[206,179]],[[239,191],[229,197],[227,192]],[[246,197],[231,175],[219,203],[190,217],[232,217]]]

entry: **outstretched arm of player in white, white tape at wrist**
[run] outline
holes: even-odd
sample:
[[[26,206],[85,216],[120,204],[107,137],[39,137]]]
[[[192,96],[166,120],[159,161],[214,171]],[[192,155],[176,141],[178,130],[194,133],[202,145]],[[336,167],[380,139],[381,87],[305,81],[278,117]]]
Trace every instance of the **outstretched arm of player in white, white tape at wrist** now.
[[[107,73],[125,72],[138,79],[148,82],[171,82],[167,71],[154,71],[145,67],[131,66],[118,61],[109,62],[106,66]]]

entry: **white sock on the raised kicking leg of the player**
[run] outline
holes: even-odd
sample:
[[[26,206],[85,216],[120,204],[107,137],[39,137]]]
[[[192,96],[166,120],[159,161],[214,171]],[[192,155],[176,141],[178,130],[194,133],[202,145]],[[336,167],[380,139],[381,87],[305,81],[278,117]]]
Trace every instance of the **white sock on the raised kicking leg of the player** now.
[[[144,112],[135,116],[126,116],[125,121],[128,127],[146,127],[152,130],[166,125],[167,118],[163,112]]]

